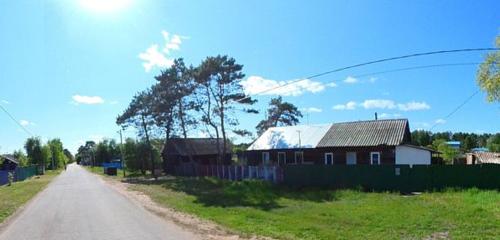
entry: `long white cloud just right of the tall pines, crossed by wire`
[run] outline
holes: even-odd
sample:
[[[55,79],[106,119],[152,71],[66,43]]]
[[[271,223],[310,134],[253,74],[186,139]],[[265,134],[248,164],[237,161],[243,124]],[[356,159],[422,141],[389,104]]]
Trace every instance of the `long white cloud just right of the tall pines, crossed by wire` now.
[[[276,81],[271,79],[265,79],[260,76],[250,76],[246,80],[241,81],[241,86],[246,94],[254,95],[281,95],[281,96],[300,96],[306,92],[317,93],[325,90],[325,85],[321,82],[311,81],[310,79],[305,79],[290,85],[286,85],[296,80],[290,81]],[[279,86],[283,86],[277,88]],[[277,89],[273,89],[277,88]],[[269,89],[273,89],[267,91]],[[266,91],[266,92],[263,92]],[[263,93],[261,93],[263,92]]]

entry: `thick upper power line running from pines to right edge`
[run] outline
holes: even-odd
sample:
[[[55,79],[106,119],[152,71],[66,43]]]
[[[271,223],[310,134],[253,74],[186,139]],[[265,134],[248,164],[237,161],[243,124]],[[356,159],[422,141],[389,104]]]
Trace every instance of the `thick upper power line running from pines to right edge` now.
[[[282,88],[282,87],[285,87],[285,86],[288,86],[288,85],[291,85],[291,84],[294,84],[294,83],[297,83],[297,82],[305,81],[307,79],[318,78],[318,77],[325,76],[325,75],[328,75],[328,74],[332,74],[332,73],[335,73],[335,72],[340,72],[340,71],[344,71],[344,70],[347,70],[347,69],[357,68],[357,67],[361,67],[361,66],[367,66],[367,65],[381,63],[381,62],[388,62],[388,61],[400,60],[400,59],[405,59],[405,58],[429,56],[429,55],[436,55],[436,54],[445,54],[445,53],[496,51],[496,50],[500,50],[500,48],[463,48],[463,49],[452,49],[452,50],[440,50],[440,51],[413,53],[413,54],[402,55],[402,56],[397,56],[397,57],[382,58],[382,59],[378,59],[378,60],[373,60],[373,61],[358,63],[358,64],[354,64],[354,65],[349,65],[349,66],[345,66],[345,67],[341,67],[341,68],[329,70],[329,71],[326,71],[326,72],[314,74],[314,75],[311,75],[311,76],[308,76],[308,77],[305,77],[305,78],[300,78],[300,79],[297,79],[297,80],[293,80],[293,81],[287,82],[287,83],[285,83],[283,85],[279,85],[279,86],[276,86],[276,87],[268,88],[266,90],[257,92],[257,93],[255,93],[253,95],[260,95],[260,94],[263,94],[263,93],[266,93],[266,92],[270,92],[270,91],[273,91],[273,90],[276,90],[276,89],[279,89],[279,88]],[[249,99],[249,98],[250,98],[250,96],[246,96],[246,97],[243,97],[243,98],[240,98],[240,99],[236,100],[236,102],[241,102],[241,101]]]

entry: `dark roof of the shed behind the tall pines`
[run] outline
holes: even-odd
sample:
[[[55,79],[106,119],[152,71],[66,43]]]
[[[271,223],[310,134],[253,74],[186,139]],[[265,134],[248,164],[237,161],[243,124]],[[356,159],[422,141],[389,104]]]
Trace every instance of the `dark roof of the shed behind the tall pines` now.
[[[222,150],[223,140],[219,139],[219,146]],[[231,143],[226,144],[226,153],[231,153]],[[169,139],[164,154],[192,156],[217,154],[216,138],[172,138]]]

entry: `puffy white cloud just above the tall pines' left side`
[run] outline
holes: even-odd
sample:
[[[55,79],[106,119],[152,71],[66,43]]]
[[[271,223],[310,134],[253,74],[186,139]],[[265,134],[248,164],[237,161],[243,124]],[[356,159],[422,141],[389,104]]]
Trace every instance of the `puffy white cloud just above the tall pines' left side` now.
[[[161,31],[161,34],[165,41],[161,49],[158,44],[153,44],[145,52],[139,54],[139,58],[143,60],[142,66],[146,72],[151,71],[154,67],[170,67],[174,63],[174,60],[169,55],[172,51],[179,51],[182,39],[186,38],[177,34],[173,34],[170,37],[170,33],[165,30]]]

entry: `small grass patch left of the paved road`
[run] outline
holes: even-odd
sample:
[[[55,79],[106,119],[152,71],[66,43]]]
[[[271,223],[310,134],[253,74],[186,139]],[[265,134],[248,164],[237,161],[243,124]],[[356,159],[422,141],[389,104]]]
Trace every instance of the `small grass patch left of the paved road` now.
[[[44,189],[59,173],[60,171],[46,171],[43,176],[14,182],[11,186],[0,186],[0,223]]]

